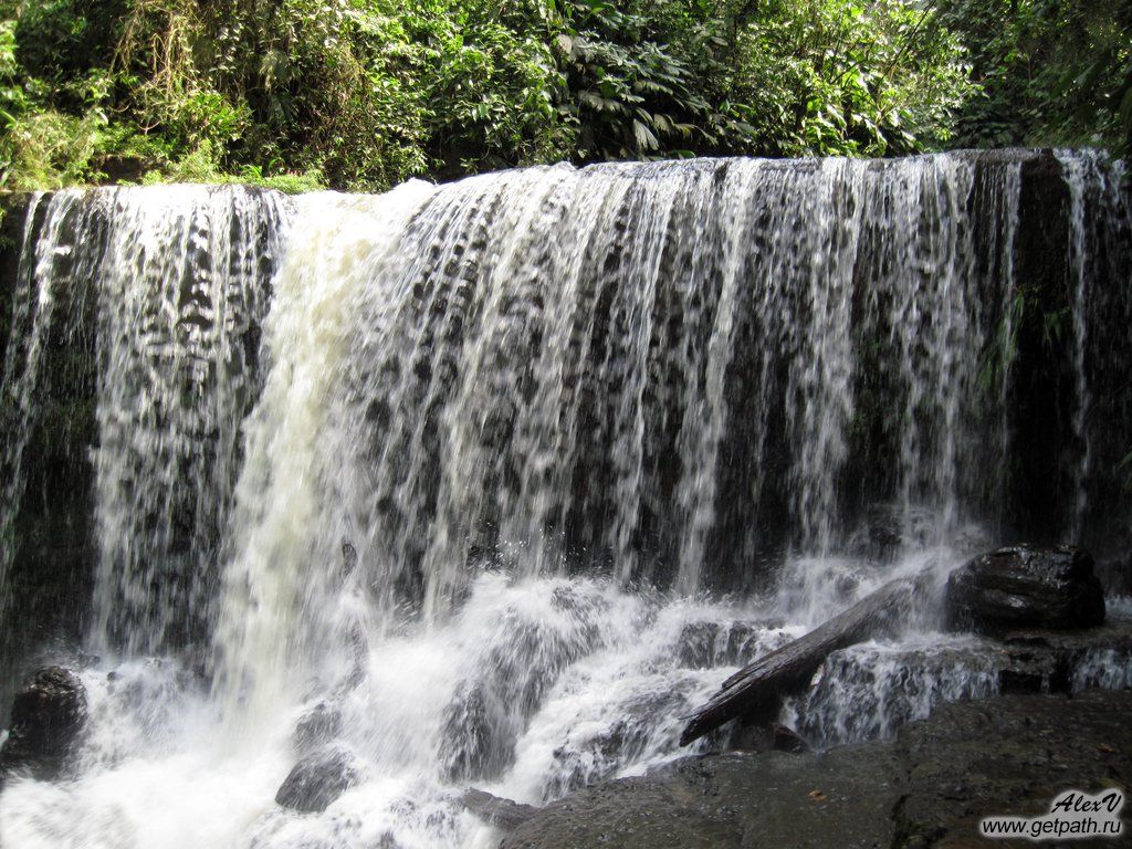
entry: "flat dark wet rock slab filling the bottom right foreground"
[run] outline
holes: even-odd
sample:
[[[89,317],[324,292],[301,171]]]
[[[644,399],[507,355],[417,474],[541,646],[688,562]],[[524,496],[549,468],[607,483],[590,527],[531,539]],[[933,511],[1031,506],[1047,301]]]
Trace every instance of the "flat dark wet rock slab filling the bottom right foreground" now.
[[[597,784],[542,808],[500,846],[1010,847],[981,839],[979,820],[1045,813],[1070,788],[1129,787],[1130,718],[1132,692],[945,705],[895,740],[689,757]]]

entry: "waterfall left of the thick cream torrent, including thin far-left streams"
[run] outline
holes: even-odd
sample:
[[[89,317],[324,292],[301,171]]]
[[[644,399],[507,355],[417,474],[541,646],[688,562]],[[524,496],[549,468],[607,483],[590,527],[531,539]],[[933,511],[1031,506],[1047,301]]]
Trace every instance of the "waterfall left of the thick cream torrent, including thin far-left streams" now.
[[[33,200],[3,377],[17,421],[5,430],[14,471],[2,563],[14,555],[22,457],[53,345],[96,374],[89,619],[101,651],[155,652],[207,634],[284,206],[265,192],[187,186]],[[50,338],[59,300],[65,327]]]

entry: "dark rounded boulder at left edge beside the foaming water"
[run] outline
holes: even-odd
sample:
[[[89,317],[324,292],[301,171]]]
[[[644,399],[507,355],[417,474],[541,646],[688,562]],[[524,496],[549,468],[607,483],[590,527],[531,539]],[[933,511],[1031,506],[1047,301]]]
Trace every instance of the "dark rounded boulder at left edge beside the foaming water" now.
[[[0,749],[0,777],[57,778],[86,720],[86,689],[62,667],[44,667],[16,693],[11,729]]]

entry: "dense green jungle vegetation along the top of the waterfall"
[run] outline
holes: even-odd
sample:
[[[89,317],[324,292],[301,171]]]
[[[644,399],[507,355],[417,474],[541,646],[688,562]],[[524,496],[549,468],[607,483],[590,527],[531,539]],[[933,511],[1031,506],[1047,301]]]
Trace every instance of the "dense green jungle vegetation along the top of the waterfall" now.
[[[1132,138],[1114,0],[0,0],[0,187]]]

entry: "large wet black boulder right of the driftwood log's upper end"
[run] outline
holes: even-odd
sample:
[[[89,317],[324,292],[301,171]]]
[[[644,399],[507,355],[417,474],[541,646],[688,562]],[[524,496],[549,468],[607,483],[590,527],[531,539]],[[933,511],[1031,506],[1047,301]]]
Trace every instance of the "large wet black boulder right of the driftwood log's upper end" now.
[[[951,574],[947,617],[957,629],[1089,628],[1105,620],[1092,557],[1074,546],[1013,546],[979,555]]]

